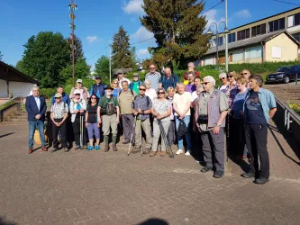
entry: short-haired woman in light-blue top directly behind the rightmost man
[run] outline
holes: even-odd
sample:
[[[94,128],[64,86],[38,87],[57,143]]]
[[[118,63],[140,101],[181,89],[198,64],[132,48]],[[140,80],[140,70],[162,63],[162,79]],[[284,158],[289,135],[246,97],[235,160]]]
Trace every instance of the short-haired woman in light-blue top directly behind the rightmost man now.
[[[237,79],[237,86],[239,93],[235,95],[232,102],[232,120],[231,136],[235,138],[235,149],[233,153],[238,156],[239,159],[247,157],[247,148],[245,146],[245,130],[244,130],[244,119],[243,119],[243,105],[245,102],[246,94],[248,93],[247,79],[239,77]],[[233,145],[232,145],[233,147]],[[233,148],[234,148],[233,147]]]

